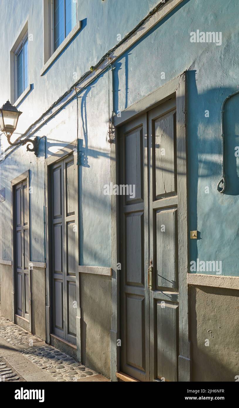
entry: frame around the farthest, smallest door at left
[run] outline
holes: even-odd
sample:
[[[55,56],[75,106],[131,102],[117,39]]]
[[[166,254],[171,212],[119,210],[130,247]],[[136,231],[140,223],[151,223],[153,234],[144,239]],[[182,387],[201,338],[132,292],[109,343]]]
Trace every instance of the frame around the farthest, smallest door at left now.
[[[14,211],[14,188],[18,183],[23,182],[24,180],[27,179],[27,219],[28,219],[28,254],[29,254],[29,259],[28,262],[30,262],[31,256],[30,256],[30,208],[29,208],[29,170],[25,171],[24,173],[20,174],[18,177],[15,179],[11,180],[11,246],[12,246],[12,285],[13,285],[13,296],[12,296],[12,321],[15,322],[15,310],[16,310],[16,302],[17,302],[17,284],[16,284],[16,279],[15,279],[15,266],[16,266],[16,253],[15,253],[15,240],[14,240],[14,224],[15,220],[13,217],[15,217],[15,211]],[[21,209],[22,211],[22,209]],[[28,285],[29,285],[29,332],[31,332],[31,271],[29,270],[28,273]],[[25,319],[24,319],[25,320]]]

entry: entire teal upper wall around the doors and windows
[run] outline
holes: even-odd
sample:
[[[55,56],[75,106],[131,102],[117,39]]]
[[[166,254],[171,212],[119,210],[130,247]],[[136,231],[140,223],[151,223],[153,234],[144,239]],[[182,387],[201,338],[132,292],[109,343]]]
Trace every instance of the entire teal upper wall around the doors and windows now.
[[[18,131],[23,132],[74,82],[95,65],[108,49],[117,43],[117,34],[124,35],[157,4],[157,1],[88,0],[79,3],[82,29],[58,57],[51,68],[40,76],[43,66],[42,1],[1,0],[3,31],[0,62],[1,104],[9,98],[9,53],[22,25],[29,18],[29,80],[33,90],[20,104],[23,111]],[[200,231],[200,239],[189,240],[190,261],[199,259],[222,262],[223,275],[239,275],[238,271],[238,194],[239,158],[239,96],[226,105],[226,176],[224,195],[217,192],[221,179],[221,104],[239,84],[239,3],[236,0],[185,0],[156,27],[133,45],[115,62],[114,110],[123,110],[145,95],[187,70],[188,76],[188,216],[189,230]],[[9,13],[12,20],[9,24]],[[221,31],[222,44],[191,43],[190,32]],[[161,73],[165,72],[165,79]],[[88,162],[82,166],[80,200],[80,258],[84,264],[111,265],[110,200],[102,197],[102,186],[109,182],[108,73],[80,95],[80,137]],[[209,110],[209,118],[205,117]],[[29,115],[31,111],[31,116]],[[38,135],[47,135],[47,155],[54,148],[76,137],[76,104],[73,101],[46,124]],[[4,137],[1,138],[1,143]],[[88,164],[88,166],[87,166]],[[9,169],[11,168],[11,172]],[[34,261],[42,261],[44,142],[40,157],[17,149],[0,164],[1,188],[6,187],[6,201],[0,206],[2,234],[0,257],[11,257],[10,187],[9,182],[26,169],[36,193],[31,196],[31,253]],[[101,186],[102,184],[102,186]],[[90,189],[89,189],[89,186]],[[205,187],[209,193],[205,193]],[[92,194],[94,197],[92,197]],[[94,217],[91,216],[94,209]],[[35,215],[38,214],[38,217]],[[87,231],[87,233],[86,233]],[[3,236],[3,235],[2,235]],[[206,272],[208,273],[208,272]]]

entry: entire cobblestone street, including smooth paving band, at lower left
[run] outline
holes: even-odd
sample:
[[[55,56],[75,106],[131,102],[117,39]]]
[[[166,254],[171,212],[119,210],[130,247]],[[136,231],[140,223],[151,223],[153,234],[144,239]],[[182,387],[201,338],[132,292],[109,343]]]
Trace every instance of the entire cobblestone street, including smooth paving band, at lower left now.
[[[0,316],[0,381],[109,381]]]

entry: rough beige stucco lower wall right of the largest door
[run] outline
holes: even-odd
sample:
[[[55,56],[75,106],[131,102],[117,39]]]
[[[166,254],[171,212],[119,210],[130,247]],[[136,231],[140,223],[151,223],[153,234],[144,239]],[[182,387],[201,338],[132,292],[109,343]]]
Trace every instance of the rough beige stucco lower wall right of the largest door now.
[[[191,381],[235,381],[239,375],[238,295],[238,290],[190,287]]]

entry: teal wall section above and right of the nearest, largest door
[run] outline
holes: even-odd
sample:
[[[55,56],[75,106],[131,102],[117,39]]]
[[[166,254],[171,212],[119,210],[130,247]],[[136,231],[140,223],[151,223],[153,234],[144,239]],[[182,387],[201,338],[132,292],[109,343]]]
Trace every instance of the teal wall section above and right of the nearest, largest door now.
[[[231,276],[239,275],[239,158],[235,157],[239,95],[225,110],[224,195],[218,193],[217,183],[221,180],[221,105],[239,85],[238,12],[237,1],[184,1],[115,64],[116,110],[188,71],[189,230],[200,232],[200,239],[189,239],[190,261],[221,261],[222,275]],[[190,33],[197,29],[221,31],[221,46],[190,42]]]

